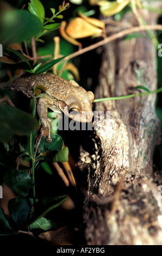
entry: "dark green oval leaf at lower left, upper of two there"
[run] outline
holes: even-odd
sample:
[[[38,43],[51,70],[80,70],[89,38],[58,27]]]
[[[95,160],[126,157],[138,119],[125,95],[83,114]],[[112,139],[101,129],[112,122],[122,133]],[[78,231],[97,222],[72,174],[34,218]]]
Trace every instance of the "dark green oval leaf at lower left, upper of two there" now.
[[[32,177],[23,170],[8,170],[4,173],[3,181],[20,196],[28,196],[29,189],[35,186]]]

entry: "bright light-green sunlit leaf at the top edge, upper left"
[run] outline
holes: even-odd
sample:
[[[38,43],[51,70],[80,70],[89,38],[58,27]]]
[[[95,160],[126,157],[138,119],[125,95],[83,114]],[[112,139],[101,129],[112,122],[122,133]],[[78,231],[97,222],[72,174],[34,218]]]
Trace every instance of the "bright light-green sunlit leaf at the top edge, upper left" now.
[[[45,19],[45,8],[39,0],[30,0],[31,3],[28,4],[28,10],[33,15],[37,16],[43,23]]]

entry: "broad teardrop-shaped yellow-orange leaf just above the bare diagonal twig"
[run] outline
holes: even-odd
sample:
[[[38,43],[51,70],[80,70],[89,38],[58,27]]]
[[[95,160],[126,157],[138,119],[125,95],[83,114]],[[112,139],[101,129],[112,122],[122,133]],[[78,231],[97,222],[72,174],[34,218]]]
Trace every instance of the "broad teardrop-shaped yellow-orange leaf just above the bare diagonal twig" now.
[[[71,36],[71,38],[86,38],[96,34],[101,35],[102,29],[92,26],[84,19],[77,17],[68,23],[66,33]]]

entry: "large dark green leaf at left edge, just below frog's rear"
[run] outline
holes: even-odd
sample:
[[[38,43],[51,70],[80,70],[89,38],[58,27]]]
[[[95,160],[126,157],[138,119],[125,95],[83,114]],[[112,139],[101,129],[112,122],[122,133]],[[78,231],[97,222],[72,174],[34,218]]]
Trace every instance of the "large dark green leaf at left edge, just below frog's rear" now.
[[[13,135],[26,135],[38,129],[38,120],[32,115],[9,105],[0,106],[0,139],[9,141]]]

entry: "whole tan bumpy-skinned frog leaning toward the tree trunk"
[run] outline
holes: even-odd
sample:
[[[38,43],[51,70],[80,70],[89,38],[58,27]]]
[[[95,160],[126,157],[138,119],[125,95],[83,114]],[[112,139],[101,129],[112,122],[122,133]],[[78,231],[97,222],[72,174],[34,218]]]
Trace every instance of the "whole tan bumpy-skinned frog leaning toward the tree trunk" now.
[[[48,129],[46,142],[51,142],[51,120],[47,118],[48,108],[62,112],[75,121],[88,123],[92,120],[94,94],[86,92],[75,81],[67,81],[54,74],[39,74],[17,78],[9,84],[13,90],[22,91],[28,97],[35,96],[33,88],[43,85],[45,93],[38,97],[37,112],[43,129]]]

